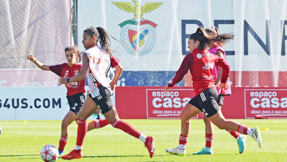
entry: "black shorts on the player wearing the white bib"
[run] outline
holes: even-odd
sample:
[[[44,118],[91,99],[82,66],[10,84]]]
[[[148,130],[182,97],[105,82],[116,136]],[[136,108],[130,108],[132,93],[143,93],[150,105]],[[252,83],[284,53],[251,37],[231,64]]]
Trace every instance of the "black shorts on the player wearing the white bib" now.
[[[93,98],[91,93],[89,94],[89,96],[97,104],[101,113],[105,114],[106,112],[108,112],[109,110],[111,110],[115,106],[112,102],[111,92],[102,85],[100,85],[98,88],[99,88],[99,92],[100,92],[99,96]]]

